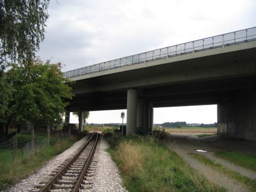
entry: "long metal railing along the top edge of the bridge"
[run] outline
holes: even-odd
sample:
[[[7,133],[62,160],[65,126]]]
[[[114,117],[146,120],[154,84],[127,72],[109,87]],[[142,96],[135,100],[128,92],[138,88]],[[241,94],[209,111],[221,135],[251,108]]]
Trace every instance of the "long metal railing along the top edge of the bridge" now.
[[[66,78],[73,78],[77,76],[97,73],[100,71],[115,69],[119,67],[137,65],[139,63],[154,61],[157,59],[175,57],[182,54],[205,51],[215,49],[218,47],[224,47],[255,40],[256,27],[253,27],[234,31],[227,34],[203,38],[196,41],[164,47],[162,49],[156,49],[144,53],[134,54],[128,57],[123,57],[111,61],[101,62],[92,66],[67,71],[63,73],[63,75]]]

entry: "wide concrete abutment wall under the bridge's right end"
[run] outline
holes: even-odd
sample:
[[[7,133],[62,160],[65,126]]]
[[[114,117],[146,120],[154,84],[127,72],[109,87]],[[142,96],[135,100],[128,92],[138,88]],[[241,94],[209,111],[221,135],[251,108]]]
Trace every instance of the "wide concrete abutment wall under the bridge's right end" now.
[[[256,140],[256,90],[238,90],[218,105],[218,134]]]

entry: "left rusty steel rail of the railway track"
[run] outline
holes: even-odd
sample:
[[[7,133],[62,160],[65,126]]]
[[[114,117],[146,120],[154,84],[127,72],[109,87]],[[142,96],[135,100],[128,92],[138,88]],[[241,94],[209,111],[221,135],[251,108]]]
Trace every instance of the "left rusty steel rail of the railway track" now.
[[[93,139],[94,134],[95,134],[95,133],[93,132],[91,138],[90,138],[90,139],[85,143],[85,145],[78,151],[78,153],[77,153],[72,159],[70,159],[70,161],[69,161],[65,166],[63,166],[62,169],[61,169],[60,171],[58,171],[58,173],[55,174],[54,177],[53,177],[49,182],[47,182],[43,188],[41,188],[41,189],[39,190],[39,192],[46,192],[46,191],[48,191],[48,190],[51,189],[51,187],[53,186],[53,184],[61,177],[62,173],[65,172],[65,171],[68,169],[68,167],[69,167],[73,162],[76,161],[76,159],[79,157],[79,155],[82,154],[82,152],[84,151],[84,149],[89,145],[89,143],[90,143],[91,140]],[[98,137],[98,133],[97,133],[97,137]]]

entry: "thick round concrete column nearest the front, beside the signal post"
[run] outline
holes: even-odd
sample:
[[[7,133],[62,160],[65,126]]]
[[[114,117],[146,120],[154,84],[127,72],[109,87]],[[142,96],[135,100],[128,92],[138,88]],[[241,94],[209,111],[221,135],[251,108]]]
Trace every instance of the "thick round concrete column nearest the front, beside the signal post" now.
[[[137,134],[137,91],[127,90],[126,134]]]

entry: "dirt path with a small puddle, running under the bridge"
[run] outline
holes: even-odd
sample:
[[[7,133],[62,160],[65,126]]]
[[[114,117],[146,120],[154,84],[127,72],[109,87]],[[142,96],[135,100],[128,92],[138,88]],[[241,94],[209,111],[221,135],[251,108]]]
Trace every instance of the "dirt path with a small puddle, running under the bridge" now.
[[[231,170],[237,171],[246,177],[256,179],[256,173],[250,170],[246,170],[241,166],[227,162],[223,159],[215,157],[213,154],[215,151],[226,149],[233,150],[243,153],[256,154],[256,142],[255,141],[241,141],[236,139],[221,138],[217,135],[207,138],[197,138],[195,133],[170,133],[167,134],[163,140],[163,144],[169,147],[181,155],[185,162],[191,167],[197,170],[199,173],[205,175],[205,177],[217,185],[221,185],[228,189],[228,191],[250,191],[245,188],[238,181],[227,177],[213,170],[211,167],[199,163],[197,160],[192,158],[189,154],[198,153],[205,155],[213,161],[220,163]],[[206,153],[196,151],[197,149],[206,150]]]

